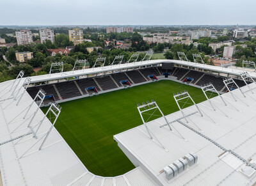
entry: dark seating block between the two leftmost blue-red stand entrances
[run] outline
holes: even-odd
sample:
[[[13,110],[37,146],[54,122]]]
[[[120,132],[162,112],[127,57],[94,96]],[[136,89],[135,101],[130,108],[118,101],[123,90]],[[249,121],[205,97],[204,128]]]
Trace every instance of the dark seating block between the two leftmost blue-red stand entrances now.
[[[58,89],[62,99],[81,96],[81,93],[79,92],[79,89],[77,89],[74,81],[60,82],[55,84],[55,86]]]

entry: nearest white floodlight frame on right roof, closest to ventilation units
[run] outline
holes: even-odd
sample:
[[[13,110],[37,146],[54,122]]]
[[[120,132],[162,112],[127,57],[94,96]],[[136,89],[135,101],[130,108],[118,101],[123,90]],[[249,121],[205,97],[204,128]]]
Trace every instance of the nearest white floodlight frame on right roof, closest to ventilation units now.
[[[159,139],[157,139],[156,136],[154,136],[153,132],[148,128],[147,122],[145,122],[145,120],[142,116],[143,112],[147,112],[147,111],[150,111],[152,109],[158,109],[161,112],[162,117],[164,118],[164,120],[168,123],[168,126],[169,126],[170,130],[172,130],[172,128],[170,127],[169,121],[165,118],[161,109],[158,107],[158,105],[156,104],[156,102],[154,100],[152,100],[152,102],[147,102],[147,104],[143,104],[143,105],[138,104],[137,109],[140,113],[141,120],[143,121],[143,124],[145,125],[145,127],[147,129],[147,132],[148,132],[148,135],[149,135],[150,139],[153,139],[153,137],[154,137],[157,140],[157,142],[159,144],[161,144],[161,146],[164,148],[163,144],[159,141]],[[141,110],[141,109],[143,109],[143,110]],[[153,114],[154,114],[154,112],[153,112]],[[164,149],[166,149],[166,148],[164,148]]]

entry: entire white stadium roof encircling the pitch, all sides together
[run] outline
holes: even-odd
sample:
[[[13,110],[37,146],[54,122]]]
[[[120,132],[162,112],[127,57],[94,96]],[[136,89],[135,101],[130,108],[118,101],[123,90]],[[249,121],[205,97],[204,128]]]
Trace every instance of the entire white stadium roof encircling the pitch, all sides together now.
[[[62,75],[40,75],[31,77],[31,82],[49,81],[159,63],[176,63],[234,75],[240,75],[241,72],[241,70],[186,61],[152,60],[116,65],[112,68],[111,66],[104,66],[94,69],[75,70],[74,72],[63,72]],[[250,75],[256,77],[255,72],[250,72]],[[17,87],[21,87],[24,81],[25,78],[22,78]],[[188,183],[188,185],[195,185],[196,183],[217,185],[216,183],[218,182],[224,185],[225,183],[252,185],[256,181],[255,176],[248,177],[241,173],[241,167],[244,166],[243,162],[236,157],[234,158],[234,155],[230,155],[230,152],[225,153],[220,158],[218,155],[223,153],[221,148],[198,136],[185,125],[177,122],[172,123],[173,127],[177,128],[188,140],[184,141],[177,135],[176,131],[170,132],[166,128],[159,128],[159,125],[164,123],[162,119],[150,122],[149,126],[168,151],[159,147],[156,141],[149,139],[145,132],[145,127],[141,125],[115,136],[116,141],[124,146],[124,150],[129,151],[132,157],[135,157],[133,161],[140,162],[138,164],[139,167],[114,178],[94,175],[84,167],[83,163],[55,128],[53,128],[45,141],[42,150],[38,150],[44,139],[42,137],[52,124],[47,118],[42,120],[44,113],[39,109],[31,127],[28,127],[29,120],[38,109],[38,105],[33,102],[27,92],[24,93],[19,104],[17,104],[18,98],[13,98],[12,91],[10,91],[13,82],[14,80],[0,83],[0,171],[3,185],[38,185],[38,183],[42,183],[42,185],[96,185],[98,183],[98,185],[156,185],[156,183],[159,185],[183,185],[184,183]],[[255,84],[251,84],[251,86],[255,86]],[[247,91],[248,88],[244,87],[242,89]],[[18,88],[16,92],[17,90]],[[23,90],[22,88],[17,97],[22,94]],[[228,107],[221,104],[219,97],[212,98],[214,105],[219,107],[221,111],[226,112],[228,117],[223,116],[221,111],[212,111],[208,102],[202,102],[199,107],[204,109],[204,112],[216,123],[212,123],[206,116],[202,118],[197,114],[193,114],[189,118],[204,130],[202,133],[205,136],[218,142],[227,150],[232,150],[241,155],[243,159],[255,160],[256,125],[254,125],[253,119],[256,116],[256,94],[247,91],[245,93],[246,98],[244,98],[239,93],[239,89],[232,92],[236,95],[237,102],[232,100],[230,93],[221,95],[230,103]],[[255,91],[253,90],[253,92]],[[27,117],[24,118],[24,112],[28,111],[29,105],[31,105],[31,109],[29,109]],[[236,111],[235,108],[239,111]],[[194,110],[195,106],[191,106],[185,109],[185,112],[188,113]],[[172,120],[180,116],[180,112],[175,112],[168,115],[167,118]],[[31,128],[34,128],[40,121],[42,121],[42,127],[38,130],[37,138],[32,137],[30,134]],[[190,124],[188,125],[190,126]],[[191,125],[190,127],[195,126]],[[163,167],[168,166],[168,164],[180,157],[184,157],[189,151],[194,151],[198,155],[198,164],[194,167],[189,167],[188,171],[167,182],[164,178],[164,173],[161,173]]]

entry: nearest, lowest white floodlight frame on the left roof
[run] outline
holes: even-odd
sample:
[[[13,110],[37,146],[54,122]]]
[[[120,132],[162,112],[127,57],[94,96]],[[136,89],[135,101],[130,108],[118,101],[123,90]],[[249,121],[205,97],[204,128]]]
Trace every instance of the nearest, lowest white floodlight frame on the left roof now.
[[[51,130],[52,128],[54,127],[54,124],[56,123],[56,121],[58,120],[58,117],[60,116],[60,112],[61,112],[61,107],[60,105],[56,104],[56,103],[52,103],[51,106],[49,107],[48,111],[45,113],[44,115],[44,118],[40,121],[40,123],[36,124],[35,127],[38,126],[38,128],[36,129],[36,132],[38,132],[38,129],[40,128],[40,126],[42,125],[43,121],[45,120],[45,118],[47,117],[47,114],[51,112],[52,114],[54,114],[54,116],[56,117],[55,120],[53,121],[51,127],[49,128],[49,130],[47,131],[46,134],[44,134],[42,137],[40,137],[40,139],[37,139],[36,143],[34,143],[28,150],[26,150],[22,155],[20,155],[19,158],[17,159],[21,159],[22,157],[24,157],[24,155],[26,155],[26,153],[28,153],[29,150],[31,150],[31,148],[33,148],[33,146],[35,146],[35,144],[37,144],[41,139],[44,138],[44,141],[42,142],[42,144],[40,145],[40,147],[38,148],[38,150],[36,151],[39,151],[39,150],[42,150],[43,146],[44,146],[44,143],[45,141],[47,140],[47,137],[49,136],[49,134],[51,133]],[[51,121],[50,121],[51,122]],[[35,128],[33,127],[33,128]],[[32,128],[32,130],[33,130]],[[34,134],[34,137],[36,136],[36,132]],[[23,137],[22,137],[23,138]],[[21,138],[21,139],[22,139]],[[21,140],[20,139],[20,140]],[[20,141],[19,140],[19,141]],[[19,143],[19,141],[17,143]],[[15,144],[17,144],[15,143]],[[35,151],[34,151],[35,152]],[[32,152],[33,153],[33,152]],[[29,153],[30,154],[30,153]]]

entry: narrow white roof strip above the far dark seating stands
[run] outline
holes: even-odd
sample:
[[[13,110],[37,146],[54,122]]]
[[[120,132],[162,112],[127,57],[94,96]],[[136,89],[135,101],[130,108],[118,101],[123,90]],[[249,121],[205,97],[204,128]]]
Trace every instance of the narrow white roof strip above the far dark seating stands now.
[[[88,75],[88,74],[109,72],[111,70],[115,71],[115,70],[122,70],[125,68],[136,68],[138,66],[157,65],[160,63],[174,63],[177,65],[191,66],[193,68],[212,70],[214,72],[220,72],[220,73],[231,74],[231,75],[239,75],[239,76],[240,76],[241,72],[247,71],[244,69],[222,68],[220,66],[204,65],[201,63],[180,61],[180,60],[174,60],[174,59],[156,59],[156,60],[150,60],[150,61],[139,61],[139,62],[135,62],[135,63],[124,63],[124,64],[120,64],[120,65],[102,66],[102,67],[97,67],[97,68],[86,68],[84,70],[74,70],[74,71],[56,73],[56,74],[51,74],[51,75],[49,75],[49,74],[37,75],[37,76],[31,77],[31,82],[52,81],[52,80],[56,80],[56,79],[75,77],[75,76],[79,76],[79,75]],[[248,73],[253,78],[256,78],[256,72],[248,71]]]

